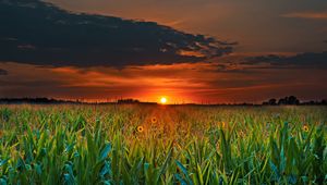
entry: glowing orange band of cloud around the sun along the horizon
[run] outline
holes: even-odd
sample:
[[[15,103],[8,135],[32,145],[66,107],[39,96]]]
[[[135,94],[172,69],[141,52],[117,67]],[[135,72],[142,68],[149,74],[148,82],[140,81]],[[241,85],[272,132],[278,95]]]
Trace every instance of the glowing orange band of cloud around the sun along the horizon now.
[[[241,58],[241,57],[238,57]],[[259,102],[267,98],[295,95],[326,97],[327,81],[322,69],[270,69],[217,59],[210,63],[114,67],[39,67],[0,63],[8,75],[0,78],[0,97],[53,97],[84,100],[135,98],[170,103]],[[314,75],[312,75],[314,74]]]

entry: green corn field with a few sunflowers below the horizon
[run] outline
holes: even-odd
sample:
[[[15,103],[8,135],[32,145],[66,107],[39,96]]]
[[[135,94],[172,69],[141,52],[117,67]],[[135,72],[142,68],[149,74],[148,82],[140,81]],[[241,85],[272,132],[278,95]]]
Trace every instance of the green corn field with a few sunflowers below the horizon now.
[[[326,184],[326,107],[0,106],[0,184]]]

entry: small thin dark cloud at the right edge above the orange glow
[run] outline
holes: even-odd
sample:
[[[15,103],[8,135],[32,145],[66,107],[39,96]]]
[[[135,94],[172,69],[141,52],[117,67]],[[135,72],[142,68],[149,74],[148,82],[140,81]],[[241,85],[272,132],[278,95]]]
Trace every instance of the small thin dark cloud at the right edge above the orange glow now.
[[[271,67],[308,67],[327,69],[327,51],[325,52],[304,52],[291,57],[282,55],[259,55],[247,58],[242,64],[268,63]]]

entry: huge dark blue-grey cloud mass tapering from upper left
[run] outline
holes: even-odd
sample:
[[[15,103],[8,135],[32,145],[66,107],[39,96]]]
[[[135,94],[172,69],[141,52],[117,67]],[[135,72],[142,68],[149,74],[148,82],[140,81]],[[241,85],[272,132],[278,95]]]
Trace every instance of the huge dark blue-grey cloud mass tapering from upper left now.
[[[81,67],[172,64],[220,57],[235,45],[154,22],[76,14],[37,0],[0,0],[0,61]]]

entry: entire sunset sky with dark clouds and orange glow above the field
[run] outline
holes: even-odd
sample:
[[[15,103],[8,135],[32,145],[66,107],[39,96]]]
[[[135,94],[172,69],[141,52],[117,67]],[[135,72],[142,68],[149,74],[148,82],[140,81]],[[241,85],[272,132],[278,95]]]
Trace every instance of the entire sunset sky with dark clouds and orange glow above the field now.
[[[0,97],[327,98],[327,1],[0,0]]]

